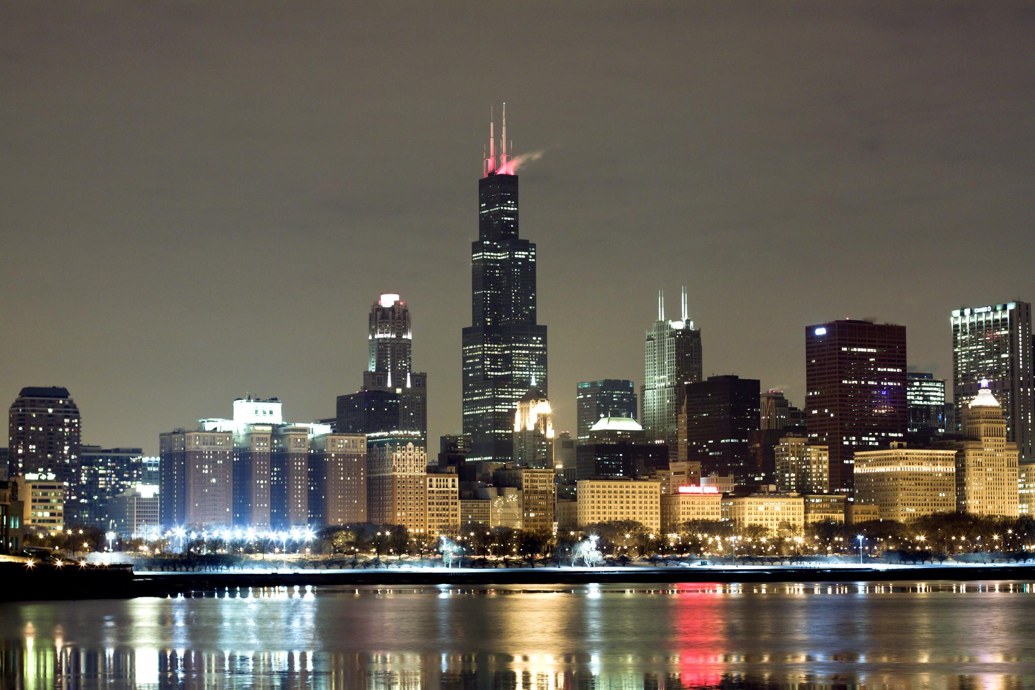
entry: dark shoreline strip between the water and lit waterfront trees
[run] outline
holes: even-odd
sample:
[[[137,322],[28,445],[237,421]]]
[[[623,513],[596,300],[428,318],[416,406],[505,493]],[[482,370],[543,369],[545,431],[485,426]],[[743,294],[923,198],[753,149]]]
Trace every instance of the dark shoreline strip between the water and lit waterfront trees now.
[[[543,567],[543,568],[391,568],[341,571],[141,572],[128,566],[78,570],[3,569],[0,601],[131,599],[205,596],[238,589],[280,587],[483,587],[525,584],[671,584],[677,582],[887,582],[1035,580],[1035,565],[928,566],[702,566],[702,567]]]

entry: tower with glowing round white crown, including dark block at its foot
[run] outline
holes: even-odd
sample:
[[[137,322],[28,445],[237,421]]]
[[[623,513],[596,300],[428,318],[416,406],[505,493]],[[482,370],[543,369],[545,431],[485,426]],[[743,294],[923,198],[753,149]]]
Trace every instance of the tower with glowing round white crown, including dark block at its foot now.
[[[396,294],[371,307],[368,359],[359,392],[337,397],[336,430],[367,444],[427,447],[427,374],[413,370],[410,309]]]

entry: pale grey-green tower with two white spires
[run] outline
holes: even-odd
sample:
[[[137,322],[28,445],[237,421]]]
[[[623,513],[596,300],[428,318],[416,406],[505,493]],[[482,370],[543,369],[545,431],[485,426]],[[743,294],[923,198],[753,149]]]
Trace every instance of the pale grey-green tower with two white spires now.
[[[678,448],[683,389],[702,377],[701,329],[689,320],[685,288],[681,297],[680,319],[672,321],[664,317],[664,293],[658,293],[657,321],[647,331],[644,342],[644,385],[640,395],[640,423],[647,431],[647,440],[668,445],[671,454],[676,454]]]

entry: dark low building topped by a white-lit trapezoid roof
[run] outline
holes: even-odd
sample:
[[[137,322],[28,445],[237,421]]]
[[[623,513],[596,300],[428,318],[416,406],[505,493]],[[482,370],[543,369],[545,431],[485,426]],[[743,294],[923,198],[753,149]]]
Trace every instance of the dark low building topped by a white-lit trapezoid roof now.
[[[575,450],[576,477],[639,477],[669,466],[669,447],[647,443],[646,432],[629,417],[603,417]]]

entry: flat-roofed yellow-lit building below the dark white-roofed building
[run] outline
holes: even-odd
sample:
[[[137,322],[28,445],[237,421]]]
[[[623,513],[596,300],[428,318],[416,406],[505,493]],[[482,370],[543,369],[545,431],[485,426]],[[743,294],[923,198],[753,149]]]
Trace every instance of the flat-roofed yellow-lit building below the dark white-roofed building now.
[[[661,482],[656,479],[580,479],[579,529],[597,522],[632,520],[661,529]]]

